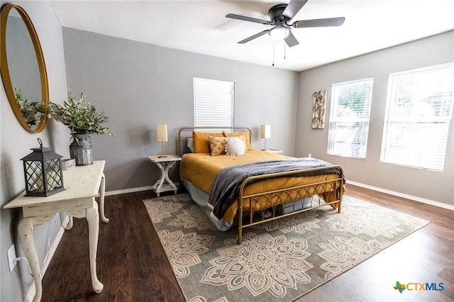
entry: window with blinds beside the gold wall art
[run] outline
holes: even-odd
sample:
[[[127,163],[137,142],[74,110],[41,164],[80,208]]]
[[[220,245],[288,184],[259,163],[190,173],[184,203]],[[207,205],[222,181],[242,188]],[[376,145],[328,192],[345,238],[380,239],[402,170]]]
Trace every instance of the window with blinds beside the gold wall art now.
[[[328,155],[366,158],[373,79],[333,84]]]

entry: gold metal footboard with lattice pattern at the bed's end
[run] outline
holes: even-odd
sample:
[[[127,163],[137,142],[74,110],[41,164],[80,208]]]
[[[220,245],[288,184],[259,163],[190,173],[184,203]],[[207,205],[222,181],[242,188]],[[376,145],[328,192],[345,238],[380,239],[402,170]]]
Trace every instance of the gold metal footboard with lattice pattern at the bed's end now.
[[[301,172],[335,168],[341,171],[341,175],[335,179],[301,184],[285,189],[275,189],[260,194],[245,194],[245,186],[254,181],[263,181],[275,177],[295,177],[296,174]],[[253,225],[267,223],[321,206],[337,207],[338,213],[341,213],[344,190],[343,169],[338,165],[248,177],[241,184],[238,197],[238,245],[241,244],[243,229]],[[310,198],[310,206],[307,204],[307,198]],[[248,206],[243,206],[245,203],[248,203]]]

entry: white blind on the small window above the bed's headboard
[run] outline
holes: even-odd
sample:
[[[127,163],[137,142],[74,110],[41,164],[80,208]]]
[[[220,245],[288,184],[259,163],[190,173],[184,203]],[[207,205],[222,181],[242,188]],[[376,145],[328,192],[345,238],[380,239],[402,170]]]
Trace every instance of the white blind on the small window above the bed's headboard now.
[[[235,83],[194,77],[194,125],[232,126]]]

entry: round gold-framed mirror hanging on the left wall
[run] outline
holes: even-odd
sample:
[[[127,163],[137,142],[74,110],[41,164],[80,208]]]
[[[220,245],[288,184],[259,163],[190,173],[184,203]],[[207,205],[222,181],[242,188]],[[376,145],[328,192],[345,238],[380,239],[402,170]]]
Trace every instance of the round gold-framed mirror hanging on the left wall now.
[[[21,6],[1,8],[0,69],[6,96],[22,127],[44,130],[49,104],[43,51],[30,17]]]

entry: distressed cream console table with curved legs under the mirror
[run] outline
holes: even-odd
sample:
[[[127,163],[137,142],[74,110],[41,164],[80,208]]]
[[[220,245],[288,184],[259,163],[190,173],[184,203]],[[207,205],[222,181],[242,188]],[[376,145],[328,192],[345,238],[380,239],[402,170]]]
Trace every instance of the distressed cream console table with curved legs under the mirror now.
[[[87,218],[89,228],[89,257],[92,287],[96,293],[101,293],[104,285],[96,275],[96,252],[99,236],[99,212],[95,197],[99,192],[101,219],[109,220],[104,216],[104,164],[105,161],[96,161],[88,166],[78,166],[63,171],[65,191],[48,197],[25,196],[25,191],[7,203],[4,208],[22,208],[23,218],[18,223],[18,235],[21,239],[23,252],[30,263],[35,282],[35,297],[33,301],[40,301],[43,295],[43,285],[40,279],[40,264],[36,255],[33,227],[52,219],[56,213],[67,212],[72,217]]]

